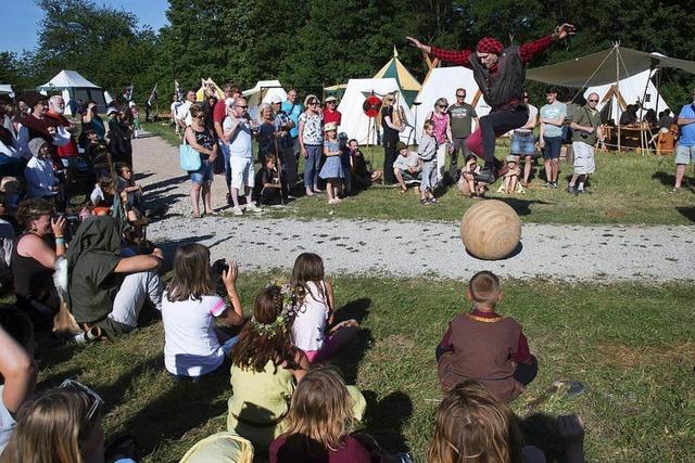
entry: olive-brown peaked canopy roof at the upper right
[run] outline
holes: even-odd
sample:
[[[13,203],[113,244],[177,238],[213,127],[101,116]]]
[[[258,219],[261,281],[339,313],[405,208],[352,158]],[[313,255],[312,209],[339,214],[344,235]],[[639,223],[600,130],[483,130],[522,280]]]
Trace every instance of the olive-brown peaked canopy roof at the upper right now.
[[[621,80],[656,67],[678,67],[695,74],[693,61],[615,46],[586,56],[529,69],[526,77],[563,87],[604,86],[616,81],[616,53]]]

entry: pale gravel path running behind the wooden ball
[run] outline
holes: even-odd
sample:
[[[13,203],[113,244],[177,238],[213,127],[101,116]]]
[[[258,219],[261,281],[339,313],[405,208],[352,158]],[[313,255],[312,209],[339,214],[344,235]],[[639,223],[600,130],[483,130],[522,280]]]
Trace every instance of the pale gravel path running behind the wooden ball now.
[[[135,168],[146,197],[167,206],[149,237],[173,252],[201,242],[213,258],[228,257],[243,270],[289,269],[302,252],[319,254],[329,273],[467,279],[489,269],[507,278],[561,280],[695,280],[695,227],[523,224],[517,254],[500,261],[466,253],[458,223],[370,220],[298,220],[261,217],[190,218],[190,182],[178,150],[152,137],[134,141]],[[220,177],[213,206],[225,205]],[[358,201],[358,200],[356,200]]]

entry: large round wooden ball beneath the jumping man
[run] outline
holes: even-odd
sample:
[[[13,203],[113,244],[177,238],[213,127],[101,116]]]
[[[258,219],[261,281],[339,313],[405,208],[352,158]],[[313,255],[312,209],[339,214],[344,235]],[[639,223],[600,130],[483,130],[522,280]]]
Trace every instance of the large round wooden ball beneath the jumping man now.
[[[468,253],[479,259],[503,259],[519,244],[521,220],[505,202],[481,201],[460,219],[460,239]]]

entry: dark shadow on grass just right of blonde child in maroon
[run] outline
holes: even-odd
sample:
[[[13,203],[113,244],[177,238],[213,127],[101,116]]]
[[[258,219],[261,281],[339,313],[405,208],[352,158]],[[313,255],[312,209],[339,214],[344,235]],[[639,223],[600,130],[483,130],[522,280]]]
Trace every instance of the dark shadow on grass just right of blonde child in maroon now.
[[[396,390],[381,400],[375,393],[364,391],[367,399],[365,430],[372,436],[383,450],[389,453],[407,451],[408,446],[403,436],[403,427],[413,415],[410,397]]]

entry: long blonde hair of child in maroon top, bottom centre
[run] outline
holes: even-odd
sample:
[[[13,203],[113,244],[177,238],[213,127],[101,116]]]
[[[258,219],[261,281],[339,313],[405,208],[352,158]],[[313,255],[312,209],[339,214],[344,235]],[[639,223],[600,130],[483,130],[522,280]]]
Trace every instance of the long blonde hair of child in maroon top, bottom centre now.
[[[337,451],[352,430],[353,408],[340,373],[330,366],[313,368],[292,395],[286,436],[304,437],[302,447],[312,453]]]

